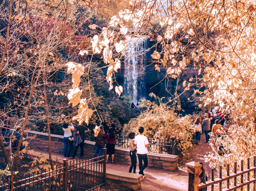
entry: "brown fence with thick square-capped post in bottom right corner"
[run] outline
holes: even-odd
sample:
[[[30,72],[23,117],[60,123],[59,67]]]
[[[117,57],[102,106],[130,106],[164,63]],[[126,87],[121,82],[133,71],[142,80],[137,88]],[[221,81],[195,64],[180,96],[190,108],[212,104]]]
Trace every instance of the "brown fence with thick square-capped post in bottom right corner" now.
[[[250,190],[250,185],[253,187],[253,191],[256,190],[256,157],[253,158],[253,166],[250,165],[250,158],[247,159],[246,169],[244,169],[244,161],[241,160],[241,169],[237,171],[237,162],[234,162],[234,172],[230,173],[230,165],[227,164],[227,174],[222,175],[222,167],[219,167],[219,177],[214,178],[214,169],[211,169],[211,180],[205,181],[205,171],[203,171],[203,182],[199,183],[199,174],[201,173],[202,165],[197,162],[189,162],[186,164],[188,167],[188,190],[189,191],[199,191],[207,190],[214,191],[214,185],[219,185],[218,190],[220,191],[231,191],[244,187],[247,188],[247,191]],[[237,178],[240,177],[240,182]],[[231,185],[231,181],[234,182]],[[224,184],[225,183],[225,184]]]

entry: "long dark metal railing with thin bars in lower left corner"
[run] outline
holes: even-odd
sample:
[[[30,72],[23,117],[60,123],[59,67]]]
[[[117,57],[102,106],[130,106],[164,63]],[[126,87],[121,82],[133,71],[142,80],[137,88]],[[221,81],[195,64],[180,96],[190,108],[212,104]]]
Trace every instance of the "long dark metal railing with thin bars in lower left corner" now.
[[[102,156],[70,161],[63,159],[63,163],[52,168],[40,169],[19,178],[9,174],[0,190],[95,190],[106,183],[106,148]]]

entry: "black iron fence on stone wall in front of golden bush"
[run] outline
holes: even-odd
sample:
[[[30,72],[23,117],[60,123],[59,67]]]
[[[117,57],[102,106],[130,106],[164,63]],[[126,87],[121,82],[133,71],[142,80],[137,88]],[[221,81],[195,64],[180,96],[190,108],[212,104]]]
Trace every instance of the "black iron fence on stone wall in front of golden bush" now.
[[[119,138],[117,138],[116,140],[117,140],[116,146],[129,148],[129,139],[127,137],[119,136]],[[178,143],[175,137],[172,137],[170,139],[148,138],[148,142],[150,145],[150,147],[148,148],[149,153],[178,155],[178,149],[177,149]]]

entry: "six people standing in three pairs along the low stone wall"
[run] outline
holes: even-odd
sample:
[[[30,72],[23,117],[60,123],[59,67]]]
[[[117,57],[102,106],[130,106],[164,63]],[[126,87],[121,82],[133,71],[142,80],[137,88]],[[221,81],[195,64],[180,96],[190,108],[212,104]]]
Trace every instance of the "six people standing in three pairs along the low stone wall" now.
[[[76,153],[78,148],[80,147],[80,158],[83,158],[84,154],[84,135],[89,130],[84,125],[79,125],[76,128],[74,133],[74,138],[72,139],[71,130],[75,130],[74,126],[71,123],[64,123],[63,124],[63,131],[64,131],[64,157],[69,157],[68,159],[75,159]],[[129,150],[130,150],[130,158],[131,158],[131,166],[129,172],[136,173],[136,166],[137,166],[137,156],[139,160],[139,172],[138,174],[143,175],[144,177],[144,170],[147,167],[148,160],[147,160],[147,148],[149,148],[149,142],[147,137],[144,135],[144,128],[138,128],[139,134],[134,132],[130,132],[128,135],[129,138]],[[106,162],[109,161],[109,156],[111,155],[111,163],[114,163],[114,150],[115,150],[115,141],[116,141],[116,134],[113,128],[109,128],[108,133],[104,132],[104,126],[100,126],[100,131],[96,137],[95,142],[95,154],[94,158],[97,157],[99,154],[100,156],[103,155],[103,148],[106,146]],[[75,145],[75,149],[73,155],[70,157],[70,150],[71,145]],[[106,144],[105,144],[106,142]],[[136,156],[137,154],[137,156]],[[101,160],[101,158],[100,158]],[[96,162],[96,159],[95,159]]]

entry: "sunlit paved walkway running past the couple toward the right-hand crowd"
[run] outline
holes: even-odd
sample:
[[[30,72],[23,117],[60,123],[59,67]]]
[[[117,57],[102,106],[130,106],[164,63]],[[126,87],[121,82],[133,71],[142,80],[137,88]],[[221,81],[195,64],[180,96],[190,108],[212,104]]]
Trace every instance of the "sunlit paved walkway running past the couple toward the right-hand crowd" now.
[[[178,171],[172,172],[169,170],[161,170],[157,168],[146,168],[145,179],[142,180],[141,188],[147,191],[160,191],[160,190],[170,190],[170,191],[187,191],[188,190],[188,172],[186,163],[196,161],[203,162],[204,169],[206,170],[208,180],[211,178],[211,168],[204,162],[204,155],[207,155],[212,149],[209,144],[205,142],[204,133],[201,134],[201,141],[199,145],[194,145],[194,148],[189,151],[189,153],[178,161],[179,167]],[[129,166],[122,164],[107,164],[107,168],[129,171]],[[137,172],[139,172],[139,167],[137,165]],[[215,171],[215,176],[217,172]]]

